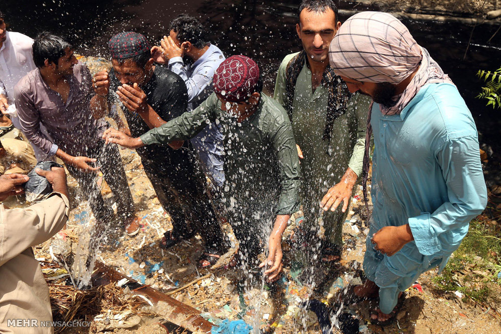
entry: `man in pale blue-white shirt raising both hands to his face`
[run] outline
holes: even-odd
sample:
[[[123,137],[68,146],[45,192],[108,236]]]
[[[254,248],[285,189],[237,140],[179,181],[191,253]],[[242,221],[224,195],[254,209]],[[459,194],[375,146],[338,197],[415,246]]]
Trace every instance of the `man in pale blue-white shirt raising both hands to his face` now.
[[[212,94],[212,78],[224,61],[224,55],[215,45],[205,41],[200,21],[181,14],[170,24],[169,37],[153,47],[152,57],[167,64],[170,71],[180,76],[188,89],[188,111],[194,110]],[[219,125],[208,124],[191,139],[202,162],[202,168],[217,187],[224,183],[223,136]]]

